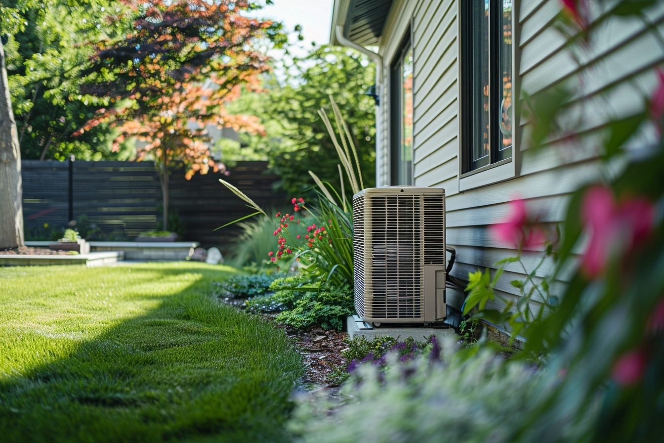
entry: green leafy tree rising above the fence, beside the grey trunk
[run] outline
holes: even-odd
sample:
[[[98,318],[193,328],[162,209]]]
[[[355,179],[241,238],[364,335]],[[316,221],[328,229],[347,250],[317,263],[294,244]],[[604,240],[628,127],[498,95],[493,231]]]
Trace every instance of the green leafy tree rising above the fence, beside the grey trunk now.
[[[104,11],[124,11],[108,0],[42,2],[0,0],[17,7],[21,27],[5,45],[11,101],[24,159],[121,158],[115,137],[101,125],[81,137],[72,134],[100,108],[97,100],[78,100],[80,70],[93,54],[86,41],[122,35],[123,23],[101,21]]]

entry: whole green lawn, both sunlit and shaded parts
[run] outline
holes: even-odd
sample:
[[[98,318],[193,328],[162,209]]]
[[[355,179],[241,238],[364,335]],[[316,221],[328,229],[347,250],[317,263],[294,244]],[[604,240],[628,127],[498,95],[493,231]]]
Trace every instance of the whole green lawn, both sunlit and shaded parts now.
[[[193,262],[0,268],[0,440],[281,441],[283,331],[220,306]]]

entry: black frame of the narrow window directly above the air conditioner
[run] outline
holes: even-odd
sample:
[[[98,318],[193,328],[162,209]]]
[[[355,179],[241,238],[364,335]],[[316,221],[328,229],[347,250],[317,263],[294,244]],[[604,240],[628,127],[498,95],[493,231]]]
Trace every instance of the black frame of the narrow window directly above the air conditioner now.
[[[404,58],[410,51],[414,64],[414,47],[412,44],[411,29],[409,27],[399,44],[392,63],[390,64],[390,185],[412,185],[413,178],[413,152],[411,142],[410,162],[406,162],[406,171],[402,171],[404,159],[402,158],[402,119],[403,119],[403,65]],[[413,66],[414,69],[414,66]],[[413,74],[414,81],[414,74]],[[413,83],[414,86],[414,83]],[[413,88],[414,91],[414,88]],[[414,106],[414,102],[413,102]],[[414,136],[414,134],[413,134]],[[404,173],[405,172],[405,177]]]

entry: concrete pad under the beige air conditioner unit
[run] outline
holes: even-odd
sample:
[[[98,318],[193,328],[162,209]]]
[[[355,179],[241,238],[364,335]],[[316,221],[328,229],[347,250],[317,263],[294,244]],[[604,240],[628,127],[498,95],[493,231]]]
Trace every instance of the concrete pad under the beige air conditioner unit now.
[[[370,323],[363,321],[357,315],[352,315],[346,319],[346,329],[351,339],[355,337],[365,337],[367,340],[373,340],[376,337],[394,337],[406,339],[413,337],[416,340],[424,340],[430,335],[435,335],[439,341],[443,337],[456,337],[454,329],[451,327],[428,327],[417,323],[382,323],[379,327],[374,327]]]

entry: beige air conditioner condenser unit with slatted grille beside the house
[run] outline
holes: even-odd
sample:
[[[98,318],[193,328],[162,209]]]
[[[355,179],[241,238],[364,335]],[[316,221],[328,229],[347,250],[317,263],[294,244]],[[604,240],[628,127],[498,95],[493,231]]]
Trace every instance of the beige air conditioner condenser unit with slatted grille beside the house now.
[[[371,323],[446,316],[445,190],[369,188],[353,196],[355,310]]]

